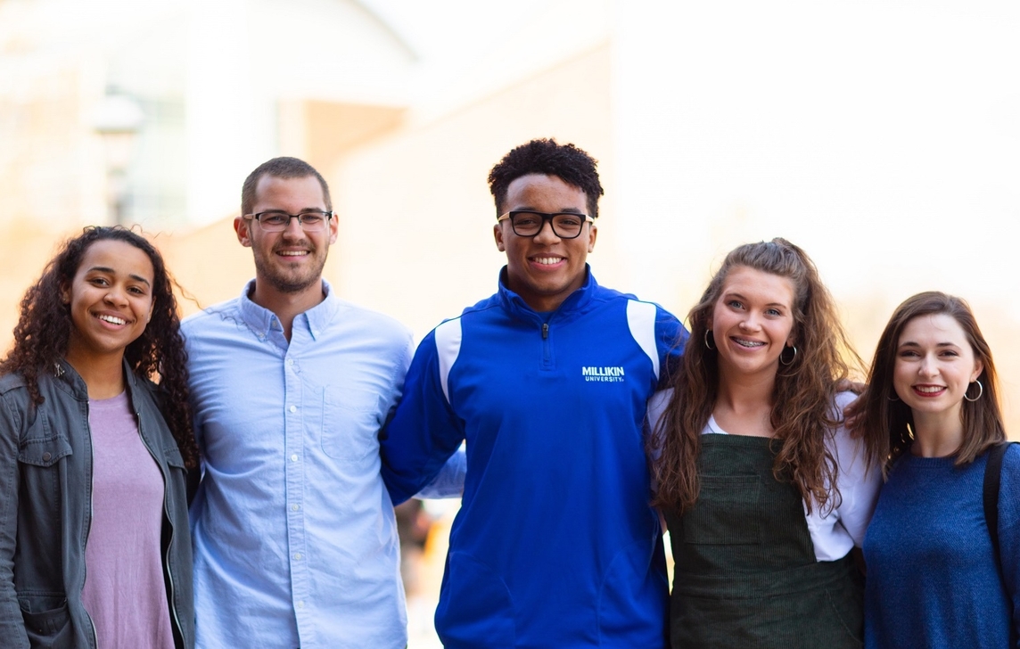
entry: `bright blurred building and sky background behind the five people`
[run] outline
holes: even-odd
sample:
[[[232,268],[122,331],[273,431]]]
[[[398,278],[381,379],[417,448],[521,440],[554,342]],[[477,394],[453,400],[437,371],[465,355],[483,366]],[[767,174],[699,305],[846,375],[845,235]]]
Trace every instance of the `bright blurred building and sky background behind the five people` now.
[[[865,360],[904,298],[967,297],[1020,437],[1017,34],[1010,0],[0,0],[0,347],[89,223],[140,223],[189,311],[236,296],[275,155],[330,184],[340,294],[421,337],[495,289],[491,166],[556,137],[600,160],[601,283],[684,314],[782,236]]]

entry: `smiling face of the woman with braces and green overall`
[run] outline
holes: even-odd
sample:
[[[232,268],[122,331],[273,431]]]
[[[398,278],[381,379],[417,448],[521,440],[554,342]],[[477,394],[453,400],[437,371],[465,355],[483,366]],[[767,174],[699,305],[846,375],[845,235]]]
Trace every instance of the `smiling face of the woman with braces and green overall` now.
[[[709,323],[720,376],[774,376],[783,347],[795,344],[794,326],[788,279],[747,266],[730,270]]]

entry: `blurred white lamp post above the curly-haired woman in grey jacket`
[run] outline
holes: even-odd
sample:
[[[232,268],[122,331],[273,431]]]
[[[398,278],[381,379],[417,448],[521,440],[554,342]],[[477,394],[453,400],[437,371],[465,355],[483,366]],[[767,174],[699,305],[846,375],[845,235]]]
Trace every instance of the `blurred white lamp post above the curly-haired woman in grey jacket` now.
[[[137,101],[126,95],[110,93],[99,103],[93,121],[106,150],[107,204],[113,222],[120,226],[126,219],[128,169],[143,118]]]

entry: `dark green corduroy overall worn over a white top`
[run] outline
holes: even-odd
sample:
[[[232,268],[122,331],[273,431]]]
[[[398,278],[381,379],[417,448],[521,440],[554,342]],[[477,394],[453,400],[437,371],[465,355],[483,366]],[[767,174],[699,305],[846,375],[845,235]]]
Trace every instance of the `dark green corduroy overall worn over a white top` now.
[[[772,475],[768,438],[703,435],[701,491],[666,512],[675,572],[673,649],[862,646],[862,583],[850,556],[818,561],[790,483]]]

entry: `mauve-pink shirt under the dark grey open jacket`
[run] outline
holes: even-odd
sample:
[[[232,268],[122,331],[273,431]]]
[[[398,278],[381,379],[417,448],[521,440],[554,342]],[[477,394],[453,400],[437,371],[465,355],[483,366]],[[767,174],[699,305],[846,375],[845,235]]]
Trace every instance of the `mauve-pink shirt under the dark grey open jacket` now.
[[[82,601],[100,647],[173,649],[160,545],[163,477],[130,403],[126,392],[89,400],[92,526]]]

